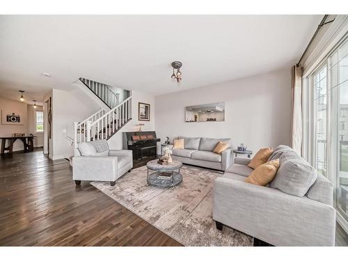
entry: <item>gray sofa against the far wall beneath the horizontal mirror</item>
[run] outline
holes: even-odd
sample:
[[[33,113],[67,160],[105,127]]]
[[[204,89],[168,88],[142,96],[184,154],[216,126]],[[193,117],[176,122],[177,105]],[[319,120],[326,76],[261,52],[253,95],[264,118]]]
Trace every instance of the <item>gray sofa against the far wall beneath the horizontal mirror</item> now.
[[[175,139],[184,139],[184,150],[174,149],[172,158],[182,161],[184,164],[225,171],[233,162],[232,139],[189,137],[177,137]],[[213,152],[219,141],[230,144],[230,147],[224,150],[221,155]]]

